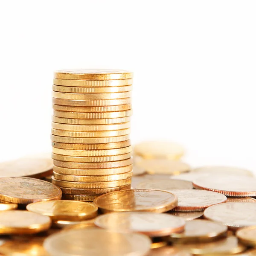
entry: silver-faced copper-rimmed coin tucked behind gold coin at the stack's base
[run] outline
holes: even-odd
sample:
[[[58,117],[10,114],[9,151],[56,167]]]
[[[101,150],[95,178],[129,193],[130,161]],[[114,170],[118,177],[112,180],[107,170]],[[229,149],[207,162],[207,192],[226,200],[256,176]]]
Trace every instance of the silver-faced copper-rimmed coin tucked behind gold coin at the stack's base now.
[[[207,190],[176,189],[169,190],[178,197],[178,205],[173,210],[178,212],[203,211],[205,208],[227,200],[226,196]]]

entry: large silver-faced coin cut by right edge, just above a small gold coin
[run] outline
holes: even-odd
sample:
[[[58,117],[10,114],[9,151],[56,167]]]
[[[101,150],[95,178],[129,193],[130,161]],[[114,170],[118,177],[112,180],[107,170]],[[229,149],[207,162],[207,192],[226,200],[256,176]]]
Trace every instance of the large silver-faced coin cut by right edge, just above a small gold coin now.
[[[204,211],[204,217],[221,222],[236,230],[239,227],[256,225],[255,203],[225,203],[213,205]]]

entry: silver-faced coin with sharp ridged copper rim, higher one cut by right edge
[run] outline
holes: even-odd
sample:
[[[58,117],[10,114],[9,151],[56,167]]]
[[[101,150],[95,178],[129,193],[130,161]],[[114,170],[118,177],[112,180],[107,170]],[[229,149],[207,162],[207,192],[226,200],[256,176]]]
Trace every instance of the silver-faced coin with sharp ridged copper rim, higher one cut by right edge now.
[[[256,178],[242,176],[202,177],[193,181],[196,189],[219,192],[227,196],[256,196]]]

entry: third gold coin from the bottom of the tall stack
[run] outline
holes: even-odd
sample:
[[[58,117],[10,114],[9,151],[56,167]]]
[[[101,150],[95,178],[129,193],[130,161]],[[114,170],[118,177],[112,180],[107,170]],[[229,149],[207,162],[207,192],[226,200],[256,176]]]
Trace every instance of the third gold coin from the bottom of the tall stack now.
[[[64,180],[56,180],[52,177],[52,183],[56,186],[74,189],[104,189],[117,186],[125,186],[131,184],[131,178],[126,180],[115,180],[105,182],[72,182]]]

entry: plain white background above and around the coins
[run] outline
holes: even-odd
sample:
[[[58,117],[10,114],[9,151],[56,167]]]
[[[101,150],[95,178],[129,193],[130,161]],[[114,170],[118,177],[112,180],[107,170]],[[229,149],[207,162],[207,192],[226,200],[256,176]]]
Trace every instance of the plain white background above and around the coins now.
[[[132,140],[256,171],[256,2],[2,1],[0,160],[51,151],[52,72],[133,70]]]

